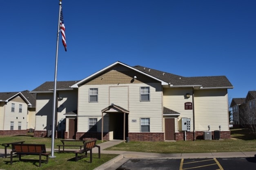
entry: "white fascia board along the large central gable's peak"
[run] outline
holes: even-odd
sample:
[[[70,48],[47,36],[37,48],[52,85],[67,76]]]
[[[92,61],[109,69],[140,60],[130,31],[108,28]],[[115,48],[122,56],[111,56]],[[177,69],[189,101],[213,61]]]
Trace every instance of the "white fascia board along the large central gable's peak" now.
[[[158,79],[158,78],[156,78],[156,77],[150,76],[149,74],[146,74],[146,73],[144,73],[144,72],[141,72],[140,70],[137,70],[136,68],[133,68],[133,67],[131,67],[131,66],[129,66],[129,65],[126,65],[126,64],[121,63],[121,62],[119,62],[119,61],[116,61],[115,63],[113,63],[113,64],[111,64],[111,65],[109,65],[109,66],[103,68],[102,70],[99,70],[98,72],[96,72],[96,73],[94,73],[94,74],[91,74],[91,76],[88,76],[88,77],[82,79],[82,80],[79,81],[78,83],[72,85],[71,88],[78,88],[78,85],[80,85],[81,83],[83,83],[83,82],[89,80],[90,78],[92,78],[92,77],[94,77],[94,76],[97,76],[97,75],[100,74],[101,72],[104,72],[105,70],[107,70],[107,69],[109,69],[109,68],[111,68],[111,67],[113,67],[114,65],[117,65],[117,64],[124,65],[125,67],[130,68],[131,70],[134,70],[134,71],[136,71],[136,72],[139,72],[139,73],[141,73],[141,74],[144,74],[144,75],[146,75],[146,76],[149,76],[149,77],[151,77],[151,78],[153,78],[153,79],[155,79],[155,80],[157,80],[157,81],[160,81],[160,82],[162,83],[162,85],[168,85],[168,83],[166,83],[165,81],[162,81],[162,80],[160,80],[160,79]]]

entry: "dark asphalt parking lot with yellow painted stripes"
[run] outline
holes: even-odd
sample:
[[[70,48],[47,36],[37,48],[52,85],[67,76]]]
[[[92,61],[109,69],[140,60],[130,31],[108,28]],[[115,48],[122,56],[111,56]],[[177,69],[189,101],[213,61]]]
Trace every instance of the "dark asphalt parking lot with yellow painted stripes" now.
[[[113,170],[114,167],[112,167]],[[128,159],[116,170],[255,170],[256,157],[204,159]],[[110,169],[108,169],[110,170]]]

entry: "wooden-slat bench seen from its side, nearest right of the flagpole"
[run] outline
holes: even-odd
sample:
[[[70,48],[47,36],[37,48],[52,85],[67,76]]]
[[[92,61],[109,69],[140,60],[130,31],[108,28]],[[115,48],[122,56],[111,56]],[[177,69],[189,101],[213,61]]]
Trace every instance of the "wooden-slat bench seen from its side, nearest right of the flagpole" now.
[[[90,163],[92,163],[92,149],[95,148],[95,147],[98,148],[98,156],[100,158],[100,146],[96,145],[96,141],[97,140],[92,140],[92,141],[89,141],[89,142],[85,142],[83,149],[77,150],[77,151],[74,152],[76,154],[76,162],[79,159],[87,157],[87,151],[90,151]],[[78,157],[78,153],[79,154],[85,153],[85,155]]]

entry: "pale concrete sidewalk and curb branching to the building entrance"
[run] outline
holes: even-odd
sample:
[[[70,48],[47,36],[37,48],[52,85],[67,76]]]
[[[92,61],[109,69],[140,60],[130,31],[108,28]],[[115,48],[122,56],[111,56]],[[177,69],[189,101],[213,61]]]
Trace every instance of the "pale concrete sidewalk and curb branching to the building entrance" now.
[[[120,151],[120,150],[104,150],[111,146],[117,145],[123,142],[122,140],[111,140],[101,144],[100,153],[102,154],[118,154],[117,157],[110,161],[102,164],[95,170],[113,170],[117,169],[128,159],[140,158],[140,159],[196,159],[196,158],[230,158],[230,157],[255,157],[255,152],[218,152],[218,153],[143,153],[143,152],[131,152],[131,151]],[[51,148],[46,149],[47,152],[51,152]],[[58,149],[55,149],[58,150]],[[77,150],[77,149],[75,149]],[[7,156],[11,153],[11,149],[7,149]],[[93,148],[93,153],[98,153],[98,148]],[[4,157],[4,149],[0,149],[0,157]]]

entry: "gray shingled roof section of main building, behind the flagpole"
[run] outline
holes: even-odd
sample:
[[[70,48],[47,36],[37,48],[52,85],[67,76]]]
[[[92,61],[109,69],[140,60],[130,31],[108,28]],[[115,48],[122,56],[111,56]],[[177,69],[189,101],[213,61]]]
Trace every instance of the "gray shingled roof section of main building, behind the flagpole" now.
[[[72,89],[70,86],[73,84],[76,84],[78,81],[57,81],[57,89]],[[47,81],[43,83],[42,85],[36,87],[36,89],[33,89],[31,92],[49,92],[50,90],[53,90],[54,88],[54,81]]]

